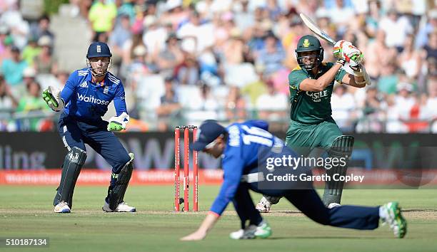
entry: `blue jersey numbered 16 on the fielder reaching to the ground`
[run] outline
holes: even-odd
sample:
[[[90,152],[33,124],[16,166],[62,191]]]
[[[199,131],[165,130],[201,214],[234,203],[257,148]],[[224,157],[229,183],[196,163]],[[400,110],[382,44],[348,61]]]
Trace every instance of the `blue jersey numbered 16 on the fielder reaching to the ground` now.
[[[226,127],[228,141],[222,156],[223,184],[210,209],[215,214],[221,215],[233,199],[241,176],[258,167],[258,155],[263,149],[284,146],[282,140],[267,130],[268,124],[261,120],[233,123]]]

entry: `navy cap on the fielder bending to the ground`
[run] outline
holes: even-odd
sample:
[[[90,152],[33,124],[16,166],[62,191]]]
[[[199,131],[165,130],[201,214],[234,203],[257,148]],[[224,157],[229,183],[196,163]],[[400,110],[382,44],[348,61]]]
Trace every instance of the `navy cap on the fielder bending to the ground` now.
[[[197,130],[197,140],[190,146],[190,149],[201,151],[205,149],[206,145],[209,145],[225,132],[226,129],[219,125],[216,120],[206,120],[202,122]]]

